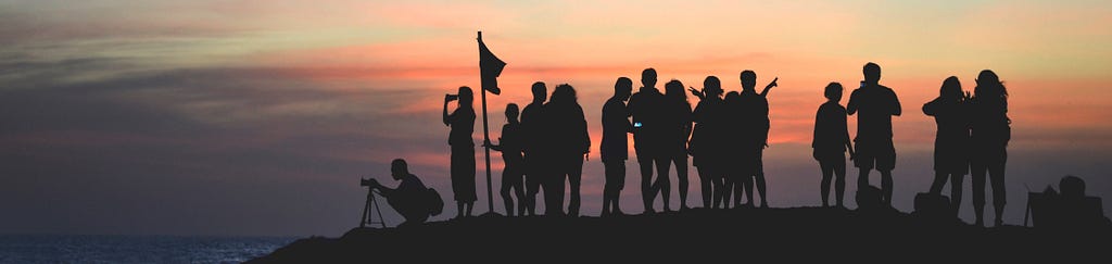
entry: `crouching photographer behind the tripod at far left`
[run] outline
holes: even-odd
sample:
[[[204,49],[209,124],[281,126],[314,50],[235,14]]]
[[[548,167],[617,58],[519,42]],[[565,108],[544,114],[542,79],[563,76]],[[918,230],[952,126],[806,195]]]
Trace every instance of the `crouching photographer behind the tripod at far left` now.
[[[410,174],[405,159],[398,158],[390,163],[390,176],[395,180],[401,180],[397,188],[383,186],[374,178],[367,180],[367,186],[377,189],[386,197],[386,203],[406,218],[398,227],[419,225],[428,221],[429,216],[439,215],[444,211],[440,194],[425,187],[417,175]]]

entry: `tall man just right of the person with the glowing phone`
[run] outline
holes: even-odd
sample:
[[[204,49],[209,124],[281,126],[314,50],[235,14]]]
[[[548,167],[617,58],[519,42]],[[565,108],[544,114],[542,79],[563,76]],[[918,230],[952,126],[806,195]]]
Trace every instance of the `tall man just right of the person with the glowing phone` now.
[[[641,72],[643,85],[637,94],[629,97],[629,115],[633,116],[633,146],[641,165],[641,195],[645,203],[645,213],[652,214],[656,190],[653,188],[653,164],[663,163],[661,157],[661,106],[664,95],[656,89],[656,70],[645,69]],[[659,168],[659,166],[657,166]]]

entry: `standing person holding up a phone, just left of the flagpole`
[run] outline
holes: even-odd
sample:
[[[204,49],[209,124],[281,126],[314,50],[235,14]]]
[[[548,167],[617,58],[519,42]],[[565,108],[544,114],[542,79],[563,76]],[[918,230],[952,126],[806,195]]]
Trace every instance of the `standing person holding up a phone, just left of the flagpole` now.
[[[457,100],[456,110],[448,115],[448,102]],[[459,87],[459,94],[444,97],[444,125],[451,127],[451,192],[456,198],[456,218],[471,216],[475,205],[475,96],[470,87]]]

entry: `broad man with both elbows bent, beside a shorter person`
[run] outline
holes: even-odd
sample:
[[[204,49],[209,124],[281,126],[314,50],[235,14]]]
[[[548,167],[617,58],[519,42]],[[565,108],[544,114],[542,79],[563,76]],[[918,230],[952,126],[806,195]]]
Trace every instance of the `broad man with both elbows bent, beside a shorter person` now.
[[[903,109],[900,99],[891,88],[878,84],[881,66],[868,62],[862,72],[865,80],[861,88],[853,90],[846,113],[857,114],[857,157],[854,165],[860,169],[857,189],[868,186],[868,170],[881,172],[881,198],[892,207],[892,169],[896,166],[896,149],[892,144],[892,116],[900,116]]]

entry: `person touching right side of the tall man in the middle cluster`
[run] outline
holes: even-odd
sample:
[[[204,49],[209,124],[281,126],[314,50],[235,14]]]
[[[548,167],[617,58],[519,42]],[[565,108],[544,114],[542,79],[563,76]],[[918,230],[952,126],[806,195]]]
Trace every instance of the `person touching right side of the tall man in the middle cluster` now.
[[[687,102],[687,91],[679,80],[671,80],[664,85],[664,100],[661,105],[662,133],[661,155],[663,163],[657,164],[661,172],[655,189],[661,190],[664,198],[664,211],[672,211],[669,196],[672,183],[668,180],[668,166],[676,166],[676,178],[679,183],[679,208],[687,209],[687,139],[692,135],[692,105]]]

